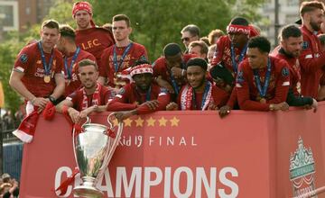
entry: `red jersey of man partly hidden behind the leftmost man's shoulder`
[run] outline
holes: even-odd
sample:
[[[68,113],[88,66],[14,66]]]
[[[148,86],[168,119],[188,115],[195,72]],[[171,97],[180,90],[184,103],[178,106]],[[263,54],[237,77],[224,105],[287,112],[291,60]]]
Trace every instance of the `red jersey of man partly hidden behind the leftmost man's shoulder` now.
[[[65,64],[63,65],[64,79],[65,79],[65,85],[66,85],[65,86],[65,96],[68,96],[72,92],[76,91],[81,85],[81,82],[80,82],[79,76],[78,76],[79,61],[83,60],[83,59],[87,59],[87,58],[96,61],[96,58],[92,54],[90,54],[89,52],[87,52],[83,49],[80,49],[78,57],[74,61],[74,64],[71,68],[71,79],[69,79],[67,69],[70,69],[70,67],[71,67],[71,61],[74,56],[74,53],[75,52],[71,53],[69,55],[69,57],[67,58],[67,67],[65,66]],[[63,56],[63,60],[64,60],[64,58],[65,57]]]

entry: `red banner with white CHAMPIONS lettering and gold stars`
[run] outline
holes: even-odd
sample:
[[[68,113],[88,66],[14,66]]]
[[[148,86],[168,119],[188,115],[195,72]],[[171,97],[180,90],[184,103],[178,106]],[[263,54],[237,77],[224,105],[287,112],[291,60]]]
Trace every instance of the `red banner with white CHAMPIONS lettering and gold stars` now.
[[[319,111],[156,112],[125,120],[98,188],[107,197],[264,197],[316,192],[325,185],[325,104]],[[107,125],[107,113],[92,122]],[[40,119],[24,145],[21,197],[57,197],[76,166],[71,131],[57,114]],[[72,188],[62,197],[73,197]],[[318,196],[325,197],[319,194]]]

